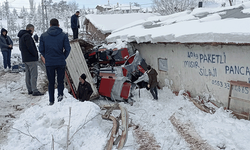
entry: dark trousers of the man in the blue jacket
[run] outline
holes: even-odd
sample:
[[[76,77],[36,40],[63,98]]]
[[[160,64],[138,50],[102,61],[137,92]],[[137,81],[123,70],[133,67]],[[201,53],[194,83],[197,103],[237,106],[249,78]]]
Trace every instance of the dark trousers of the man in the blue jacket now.
[[[57,74],[58,97],[63,96],[65,66],[46,66],[47,77],[49,80],[49,101],[55,101],[55,77]]]

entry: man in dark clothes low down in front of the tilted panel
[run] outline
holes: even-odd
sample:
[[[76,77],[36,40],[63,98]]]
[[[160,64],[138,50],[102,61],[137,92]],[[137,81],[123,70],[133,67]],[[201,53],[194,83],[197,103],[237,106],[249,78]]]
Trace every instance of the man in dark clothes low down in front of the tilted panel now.
[[[77,88],[77,97],[79,101],[84,102],[85,100],[89,100],[93,90],[91,85],[86,81],[85,74],[82,74],[79,80],[80,82]]]

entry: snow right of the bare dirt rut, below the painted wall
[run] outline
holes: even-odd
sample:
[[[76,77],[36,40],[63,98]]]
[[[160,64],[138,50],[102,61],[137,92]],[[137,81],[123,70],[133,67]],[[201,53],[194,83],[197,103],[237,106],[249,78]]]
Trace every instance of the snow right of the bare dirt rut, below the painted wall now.
[[[191,123],[202,139],[213,147],[247,150],[250,146],[247,142],[250,122],[234,119],[222,107],[213,115],[183,108],[176,112],[176,116],[182,122]]]

